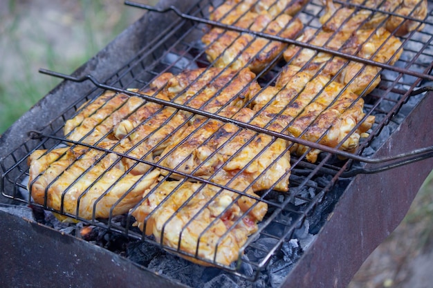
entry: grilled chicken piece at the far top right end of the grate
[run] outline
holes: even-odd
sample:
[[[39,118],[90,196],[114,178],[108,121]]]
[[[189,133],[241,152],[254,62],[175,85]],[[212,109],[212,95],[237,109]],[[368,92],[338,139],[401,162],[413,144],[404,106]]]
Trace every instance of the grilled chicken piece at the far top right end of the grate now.
[[[358,4],[378,11],[351,8],[349,4]],[[426,17],[427,0],[355,0],[348,2],[347,6],[333,3],[333,0],[326,0],[325,14],[320,18],[320,22],[324,24],[324,30],[329,31],[342,29],[353,32],[359,28],[369,29],[383,26],[389,32],[395,31],[396,36],[404,36],[411,31],[421,30],[424,25],[420,21]]]

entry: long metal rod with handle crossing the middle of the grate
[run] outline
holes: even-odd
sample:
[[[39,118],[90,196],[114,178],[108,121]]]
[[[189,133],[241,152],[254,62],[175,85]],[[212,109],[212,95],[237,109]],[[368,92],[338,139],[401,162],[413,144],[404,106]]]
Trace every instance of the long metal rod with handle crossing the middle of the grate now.
[[[324,146],[322,144],[317,144],[315,142],[310,142],[310,141],[303,140],[303,139],[300,139],[300,138],[297,138],[297,137],[293,137],[293,136],[290,136],[290,135],[285,135],[285,134],[278,133],[278,132],[275,132],[275,131],[270,131],[270,130],[268,130],[266,128],[261,128],[259,126],[255,126],[255,125],[248,124],[248,123],[245,123],[245,122],[239,122],[237,120],[230,119],[230,118],[227,118],[227,117],[223,117],[221,115],[216,115],[216,114],[209,113],[209,112],[206,112],[206,111],[201,111],[201,110],[196,109],[196,108],[191,108],[191,107],[188,107],[188,106],[183,106],[181,104],[176,104],[174,102],[169,102],[169,101],[166,101],[166,100],[163,100],[163,99],[158,99],[158,98],[155,98],[155,97],[151,97],[151,96],[148,96],[148,95],[142,95],[140,93],[135,93],[133,91],[125,90],[125,89],[122,89],[122,88],[116,88],[116,87],[113,87],[113,86],[109,86],[107,84],[102,84],[100,81],[98,81],[98,79],[95,79],[95,77],[93,77],[92,75],[86,75],[86,76],[83,76],[83,77],[73,77],[71,75],[65,75],[65,74],[62,74],[62,73],[57,73],[57,72],[54,72],[54,71],[51,71],[51,70],[47,70],[47,69],[43,69],[43,68],[39,69],[39,73],[50,75],[50,76],[53,76],[53,77],[62,78],[62,79],[69,80],[69,81],[74,81],[74,82],[83,82],[83,81],[89,80],[93,84],[95,84],[95,86],[97,86],[98,88],[102,88],[104,90],[111,90],[111,91],[114,91],[114,92],[117,92],[117,93],[124,93],[124,94],[127,94],[127,95],[133,95],[133,96],[137,96],[137,97],[142,97],[143,99],[145,99],[146,101],[149,101],[149,102],[155,102],[155,103],[160,104],[160,105],[171,106],[171,107],[177,108],[179,110],[188,111],[188,112],[195,113],[197,115],[202,115],[202,116],[205,116],[205,117],[209,117],[209,118],[212,118],[212,119],[217,119],[217,120],[219,120],[221,122],[224,122],[224,123],[232,123],[232,124],[235,124],[237,126],[240,126],[241,128],[250,129],[250,130],[255,131],[257,133],[265,133],[265,134],[273,136],[273,137],[282,138],[284,140],[295,142],[297,144],[301,144],[301,145],[308,146],[308,147],[311,147],[311,148],[319,149],[321,151],[332,153],[334,155],[338,155],[340,157],[348,158],[348,159],[351,159],[351,160],[356,160],[358,162],[367,163],[367,164],[380,164],[380,165],[378,165],[376,167],[371,167],[371,168],[368,168],[368,169],[364,169],[364,168],[352,169],[350,171],[342,173],[342,177],[352,177],[352,176],[357,175],[357,174],[378,173],[378,172],[381,172],[381,171],[386,171],[386,170],[389,170],[389,169],[394,169],[394,168],[397,168],[397,167],[400,167],[400,166],[403,166],[403,165],[411,164],[411,163],[414,163],[414,162],[418,162],[418,161],[425,160],[427,158],[433,157],[433,146],[427,146],[425,148],[419,148],[419,149],[413,150],[413,151],[411,151],[409,153],[401,153],[401,154],[398,154],[398,155],[395,155],[395,156],[378,157],[378,158],[374,158],[373,159],[373,158],[369,158],[369,157],[360,156],[360,155],[356,155],[356,154],[353,154],[353,153],[341,151],[341,150],[338,150],[338,149],[335,149],[335,148],[331,148],[329,146]],[[426,87],[425,89],[432,90],[431,87]],[[418,89],[418,90],[416,90],[414,92],[418,93],[418,94],[425,92],[425,90],[423,90],[423,91],[419,91],[419,90],[421,90],[421,89]],[[322,167],[321,170],[322,171],[326,171],[326,173],[331,173],[331,174],[336,174],[338,172],[338,171],[335,171],[333,169],[325,169],[323,167]]]

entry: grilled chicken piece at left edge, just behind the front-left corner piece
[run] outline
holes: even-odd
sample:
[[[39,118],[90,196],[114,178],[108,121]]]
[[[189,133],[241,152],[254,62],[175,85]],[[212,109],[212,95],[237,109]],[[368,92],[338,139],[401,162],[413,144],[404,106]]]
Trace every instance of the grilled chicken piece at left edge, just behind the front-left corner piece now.
[[[130,90],[138,92],[137,89]],[[142,94],[152,96],[154,92]],[[156,97],[169,101],[163,94],[158,94]],[[159,104],[146,103],[144,99],[137,96],[107,91],[93,102],[84,103],[78,109],[80,113],[66,121],[64,135],[68,140],[86,144],[115,140],[116,138],[111,134],[113,127],[142,105],[146,105],[147,109],[152,111],[150,113],[158,111],[161,107]]]

